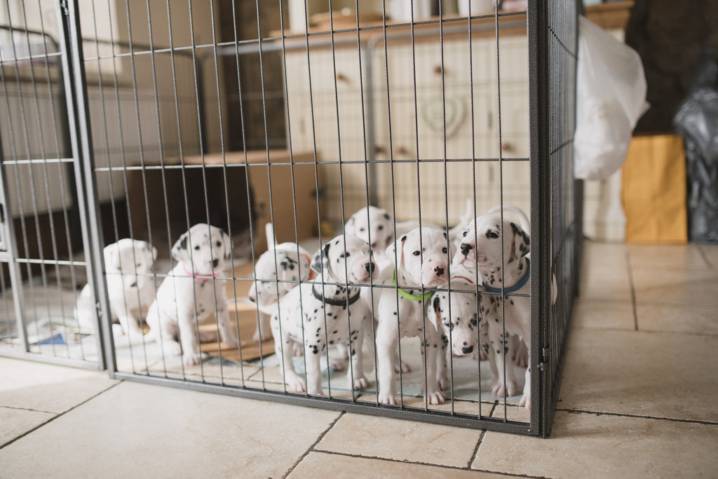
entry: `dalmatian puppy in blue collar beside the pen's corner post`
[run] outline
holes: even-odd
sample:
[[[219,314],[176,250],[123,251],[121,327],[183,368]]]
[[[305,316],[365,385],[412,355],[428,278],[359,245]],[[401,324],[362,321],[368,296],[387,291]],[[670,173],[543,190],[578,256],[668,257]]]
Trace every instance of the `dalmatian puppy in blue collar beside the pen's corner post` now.
[[[502,248],[503,236],[503,248]],[[492,393],[495,396],[511,396],[516,390],[516,378],[512,368],[505,368],[510,338],[504,330],[521,338],[531,338],[530,265],[528,254],[530,240],[526,231],[500,215],[482,215],[472,220],[464,229],[453,264],[472,270],[477,269],[483,279],[485,291],[480,297],[480,312],[488,323],[489,343],[498,370]],[[502,262],[505,261],[505,264]],[[501,287],[503,286],[503,296]],[[526,294],[526,296],[516,296]],[[502,322],[505,317],[505,326]],[[526,342],[528,357],[530,342]],[[504,371],[506,376],[504,376]],[[526,368],[526,382],[521,406],[531,407],[531,367]]]

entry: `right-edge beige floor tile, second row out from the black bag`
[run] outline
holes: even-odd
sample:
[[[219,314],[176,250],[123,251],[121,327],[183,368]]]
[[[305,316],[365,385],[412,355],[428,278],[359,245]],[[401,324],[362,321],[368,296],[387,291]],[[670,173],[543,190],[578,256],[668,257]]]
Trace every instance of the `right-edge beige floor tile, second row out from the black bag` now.
[[[718,271],[634,268],[637,302],[718,306]]]

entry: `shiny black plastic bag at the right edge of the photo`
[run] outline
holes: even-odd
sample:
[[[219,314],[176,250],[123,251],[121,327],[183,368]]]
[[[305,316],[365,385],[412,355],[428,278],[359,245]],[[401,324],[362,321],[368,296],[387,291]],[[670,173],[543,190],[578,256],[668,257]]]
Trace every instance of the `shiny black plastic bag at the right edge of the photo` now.
[[[686,146],[689,240],[718,243],[718,57],[710,47],[701,52],[673,127]]]

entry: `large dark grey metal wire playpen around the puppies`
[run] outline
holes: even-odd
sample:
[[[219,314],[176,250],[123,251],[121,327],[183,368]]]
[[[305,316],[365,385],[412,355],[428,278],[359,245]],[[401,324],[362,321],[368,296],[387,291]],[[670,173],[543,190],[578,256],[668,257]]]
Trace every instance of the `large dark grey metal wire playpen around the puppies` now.
[[[5,0],[0,355],[222,394],[548,435],[581,258],[582,190],[572,170],[577,2],[528,1],[523,11],[426,2],[434,10],[421,16],[410,8],[415,3]],[[368,207],[381,215],[368,215]],[[521,223],[531,238],[526,289],[492,289],[476,273],[476,284],[460,287],[449,274],[471,248],[454,233],[478,242],[484,233],[470,231],[479,223],[470,220],[495,207],[501,225],[521,223],[518,210],[530,218]],[[341,280],[327,276],[332,238],[361,236],[356,224],[364,219],[368,243],[382,235],[398,243],[373,251],[359,280],[348,257],[364,250],[344,240]],[[215,237],[208,225],[223,233]],[[449,233],[438,241],[449,255],[447,272],[434,270],[446,281],[407,293],[397,248],[412,241],[406,231],[417,225]],[[498,227],[502,248],[519,248],[507,228]],[[421,261],[437,243],[426,235],[414,252]],[[274,254],[264,277],[268,247]],[[195,261],[205,249],[208,271]],[[518,258],[501,254],[499,269]],[[286,269],[296,274],[282,276]],[[393,282],[386,279],[392,269]],[[311,292],[302,289],[308,285]],[[297,317],[286,313],[294,289],[282,306],[258,309],[260,287],[275,302],[297,287]],[[340,299],[322,299],[317,287],[324,294],[336,287]],[[396,312],[406,311],[400,297],[414,293],[419,312],[395,313],[387,329],[381,309],[394,302]],[[381,303],[386,295],[395,299]],[[351,315],[338,320],[344,310],[359,315],[359,297],[368,319],[360,327]],[[460,319],[442,331],[439,297],[451,298],[449,317],[460,309],[457,298],[473,301],[475,338],[453,353]],[[309,312],[315,300],[323,315]],[[516,331],[507,301],[526,303],[529,334],[509,338]],[[496,325],[485,325],[488,302],[504,304]],[[332,307],[340,311],[333,320]],[[383,335],[401,333],[409,319],[419,321],[420,340],[397,340],[396,377],[383,382],[380,358],[393,354]],[[311,320],[320,321],[316,337],[324,335],[314,343],[325,347],[314,350],[322,356],[318,376]],[[297,324],[290,339],[299,348],[285,355],[292,346],[271,340],[269,328],[281,336]],[[348,351],[330,347],[332,335],[341,336],[335,327],[347,328]],[[499,349],[481,333],[491,337],[495,327]],[[177,336],[182,355],[163,334]],[[358,338],[363,366],[354,362]],[[196,358],[192,348],[199,348]],[[519,406],[527,365],[531,409]],[[296,388],[286,368],[309,392]],[[443,392],[430,394],[434,369]],[[398,404],[385,404],[395,402],[386,400],[388,383]]]

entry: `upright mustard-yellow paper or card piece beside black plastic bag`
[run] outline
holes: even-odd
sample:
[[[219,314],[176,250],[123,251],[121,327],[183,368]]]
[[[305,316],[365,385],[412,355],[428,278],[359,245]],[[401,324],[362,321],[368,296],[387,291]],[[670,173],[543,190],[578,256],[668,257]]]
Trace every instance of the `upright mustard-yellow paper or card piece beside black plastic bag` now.
[[[622,174],[626,243],[686,243],[686,157],[681,136],[634,136]]]

